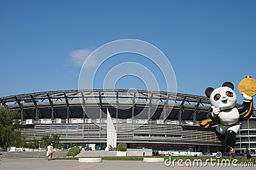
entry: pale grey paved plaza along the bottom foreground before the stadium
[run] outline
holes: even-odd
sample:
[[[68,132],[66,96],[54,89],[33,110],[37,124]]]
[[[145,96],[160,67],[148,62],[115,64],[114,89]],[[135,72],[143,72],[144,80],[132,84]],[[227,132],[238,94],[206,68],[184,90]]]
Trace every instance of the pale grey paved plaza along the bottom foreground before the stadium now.
[[[142,170],[150,170],[150,169],[183,169],[183,170],[214,170],[214,169],[255,169],[255,167],[221,167],[221,166],[211,166],[207,167],[188,167],[188,166],[166,166],[163,162],[151,162],[146,163],[143,161],[133,161],[133,160],[103,160],[100,163],[81,163],[78,160],[51,160],[42,158],[23,158],[23,159],[1,159],[0,169],[8,170],[8,169],[19,169],[19,170],[28,170],[28,169],[36,169],[36,170],[50,170],[50,169],[63,169],[63,170],[82,170],[82,169],[90,169],[90,170],[102,170],[102,169],[113,169],[113,170],[128,170],[128,169],[142,169]]]

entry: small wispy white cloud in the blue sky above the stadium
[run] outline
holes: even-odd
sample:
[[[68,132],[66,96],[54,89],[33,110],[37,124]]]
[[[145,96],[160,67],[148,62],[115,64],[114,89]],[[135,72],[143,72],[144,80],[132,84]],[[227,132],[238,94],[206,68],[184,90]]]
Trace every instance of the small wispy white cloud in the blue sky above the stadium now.
[[[81,49],[81,50],[74,50],[70,53],[70,56],[72,58],[72,61],[74,62],[75,66],[83,66],[84,61],[88,58],[92,50],[89,49]],[[97,65],[97,61],[95,60],[95,57],[92,55],[90,58],[86,60],[86,66],[94,67]]]

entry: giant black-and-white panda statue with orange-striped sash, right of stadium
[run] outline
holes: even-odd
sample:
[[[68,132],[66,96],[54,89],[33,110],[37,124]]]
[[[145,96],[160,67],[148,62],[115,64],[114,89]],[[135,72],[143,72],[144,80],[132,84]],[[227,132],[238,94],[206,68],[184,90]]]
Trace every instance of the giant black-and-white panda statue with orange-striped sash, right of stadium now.
[[[209,97],[211,108],[209,119],[203,120],[200,125],[205,129],[212,125],[218,125],[214,129],[218,139],[224,142],[226,150],[236,144],[236,134],[239,132],[240,122],[252,116],[252,97],[242,92],[243,104],[237,105],[237,97],[234,92],[234,85],[231,82],[223,83],[222,87],[205,89],[205,95]]]

